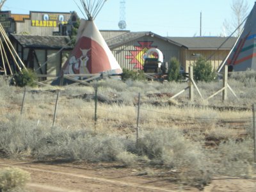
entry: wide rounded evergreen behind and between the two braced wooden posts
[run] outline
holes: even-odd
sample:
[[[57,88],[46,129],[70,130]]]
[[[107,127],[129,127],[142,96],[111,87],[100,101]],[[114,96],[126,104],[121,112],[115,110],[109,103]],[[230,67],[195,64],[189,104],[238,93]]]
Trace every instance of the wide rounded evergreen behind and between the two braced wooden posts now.
[[[210,62],[205,60],[205,58],[200,57],[194,66],[194,79],[196,81],[213,81],[216,77],[216,73],[212,70],[212,65]]]

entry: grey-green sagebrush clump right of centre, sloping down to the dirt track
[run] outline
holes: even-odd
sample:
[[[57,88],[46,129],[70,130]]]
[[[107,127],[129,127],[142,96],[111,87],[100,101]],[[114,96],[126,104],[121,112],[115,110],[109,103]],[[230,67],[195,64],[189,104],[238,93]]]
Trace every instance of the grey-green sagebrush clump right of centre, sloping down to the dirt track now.
[[[182,170],[180,179],[187,184],[204,186],[211,180],[211,166],[200,143],[187,140],[176,129],[145,133],[138,141],[138,153],[152,163]]]

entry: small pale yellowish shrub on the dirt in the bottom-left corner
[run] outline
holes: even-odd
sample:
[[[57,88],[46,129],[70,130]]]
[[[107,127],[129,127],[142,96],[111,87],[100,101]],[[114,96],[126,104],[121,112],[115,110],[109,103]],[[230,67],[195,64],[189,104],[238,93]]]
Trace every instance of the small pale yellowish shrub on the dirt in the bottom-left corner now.
[[[30,174],[20,168],[0,170],[0,191],[20,191],[30,180]]]

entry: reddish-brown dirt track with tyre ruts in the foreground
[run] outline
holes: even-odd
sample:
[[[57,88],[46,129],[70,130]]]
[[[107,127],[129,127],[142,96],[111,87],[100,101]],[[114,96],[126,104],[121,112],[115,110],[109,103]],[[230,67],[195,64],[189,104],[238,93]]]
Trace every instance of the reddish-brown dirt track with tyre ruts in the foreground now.
[[[30,192],[78,191],[200,191],[173,184],[166,177],[145,175],[135,168],[124,168],[107,163],[34,163],[0,159],[0,169],[15,166],[31,173],[26,188]],[[253,179],[215,177],[204,189],[210,191],[256,191]]]

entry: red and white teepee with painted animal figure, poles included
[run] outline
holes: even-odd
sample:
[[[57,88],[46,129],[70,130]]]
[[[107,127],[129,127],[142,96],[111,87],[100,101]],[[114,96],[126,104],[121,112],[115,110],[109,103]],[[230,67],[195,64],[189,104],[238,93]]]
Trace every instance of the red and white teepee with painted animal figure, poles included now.
[[[95,1],[81,0],[87,18],[81,19],[76,45],[63,65],[63,74],[122,73],[120,65],[93,21],[106,0]]]

